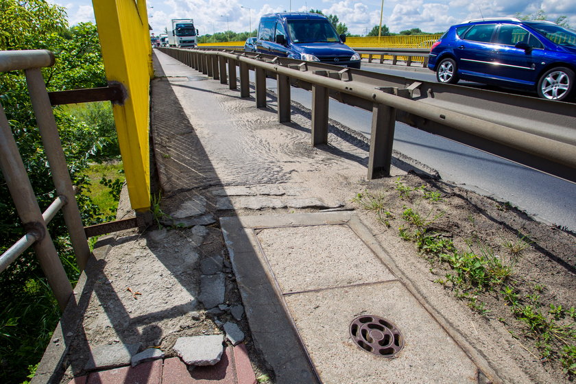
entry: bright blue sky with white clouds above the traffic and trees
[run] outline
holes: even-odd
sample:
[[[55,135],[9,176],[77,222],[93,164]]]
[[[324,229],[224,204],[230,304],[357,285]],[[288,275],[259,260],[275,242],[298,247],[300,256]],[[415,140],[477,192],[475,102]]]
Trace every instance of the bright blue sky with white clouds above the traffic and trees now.
[[[94,22],[91,0],[49,0],[67,8],[70,25]],[[148,21],[158,35],[170,28],[171,19],[193,19],[201,35],[230,30],[257,29],[260,16],[272,12],[322,10],[335,14],[351,34],[365,35],[382,23],[390,32],[420,28],[444,32],[450,25],[481,17],[514,17],[542,8],[548,19],[567,16],[576,29],[575,0],[147,0]]]

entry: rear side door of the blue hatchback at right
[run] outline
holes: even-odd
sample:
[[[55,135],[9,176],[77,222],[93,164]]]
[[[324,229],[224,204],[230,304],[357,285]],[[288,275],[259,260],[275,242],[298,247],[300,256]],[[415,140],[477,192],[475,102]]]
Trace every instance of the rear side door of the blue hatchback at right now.
[[[463,78],[481,81],[492,65],[492,36],[496,24],[477,24],[466,31],[455,47],[456,64]]]

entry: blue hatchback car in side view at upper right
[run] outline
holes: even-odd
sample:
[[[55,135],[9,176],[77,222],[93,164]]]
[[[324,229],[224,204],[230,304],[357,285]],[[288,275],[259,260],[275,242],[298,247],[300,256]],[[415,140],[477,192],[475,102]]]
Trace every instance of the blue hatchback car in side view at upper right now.
[[[428,68],[442,83],[470,80],[565,100],[575,88],[576,32],[549,21],[471,20],[432,45]]]

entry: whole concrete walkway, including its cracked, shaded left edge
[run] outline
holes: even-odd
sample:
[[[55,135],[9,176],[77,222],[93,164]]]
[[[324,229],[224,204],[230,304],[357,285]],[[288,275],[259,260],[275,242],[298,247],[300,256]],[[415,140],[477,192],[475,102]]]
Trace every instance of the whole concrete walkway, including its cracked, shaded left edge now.
[[[278,123],[274,90],[256,108],[253,90],[241,99],[158,50],[154,67],[165,228],[100,239],[33,384],[58,382],[61,369],[62,383],[499,382],[353,212],[368,164],[361,135],[331,121],[328,145],[311,147],[310,111],[293,105]],[[393,164],[394,176],[413,169]],[[224,362],[176,357],[179,337],[214,334],[226,335]],[[115,345],[165,357],[86,368],[95,348]]]

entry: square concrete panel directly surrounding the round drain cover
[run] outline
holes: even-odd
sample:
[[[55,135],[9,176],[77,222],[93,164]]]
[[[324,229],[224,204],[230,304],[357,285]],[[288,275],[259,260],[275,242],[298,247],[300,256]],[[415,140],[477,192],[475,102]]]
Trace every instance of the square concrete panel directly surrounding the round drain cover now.
[[[477,383],[477,367],[398,281],[285,296],[322,383]],[[405,346],[372,355],[350,338],[350,322],[376,315],[394,323]]]

